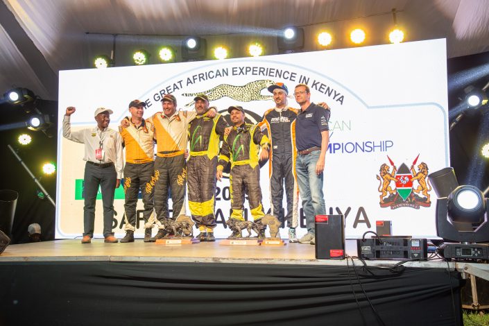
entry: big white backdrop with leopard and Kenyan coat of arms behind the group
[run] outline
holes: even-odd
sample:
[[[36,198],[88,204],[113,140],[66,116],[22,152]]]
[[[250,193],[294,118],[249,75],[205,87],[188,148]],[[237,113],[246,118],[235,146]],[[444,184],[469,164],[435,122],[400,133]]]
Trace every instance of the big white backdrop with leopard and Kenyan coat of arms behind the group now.
[[[83,233],[83,144],[62,137],[68,106],[72,129],[96,126],[98,107],[114,111],[117,130],[135,98],[148,105],[144,117],[160,112],[164,94],[173,94],[180,110],[194,110],[194,94],[205,93],[227,115],[241,105],[252,123],[275,103],[266,89],[282,82],[311,89],[311,101],[332,108],[324,193],[327,212],[345,215],[347,237],[375,231],[376,221],[392,221],[394,235],[436,236],[436,195],[427,173],[449,166],[445,40],[354,49],[270,55],[259,58],[182,62],[139,67],[60,71],[56,238]],[[298,108],[292,96],[289,105]],[[261,168],[264,209],[270,209],[268,164]],[[217,184],[215,235],[230,230],[229,180]],[[100,195],[99,195],[100,196]],[[123,232],[123,188],[116,191],[114,232]],[[141,200],[139,200],[141,202]],[[171,207],[171,206],[170,206]],[[248,203],[245,216],[251,218]],[[284,207],[286,207],[284,200]],[[136,234],[142,237],[138,203]],[[189,210],[187,207],[187,213]],[[96,204],[95,236],[102,232],[101,200]],[[305,231],[300,214],[298,235]],[[282,231],[282,237],[286,232]]]

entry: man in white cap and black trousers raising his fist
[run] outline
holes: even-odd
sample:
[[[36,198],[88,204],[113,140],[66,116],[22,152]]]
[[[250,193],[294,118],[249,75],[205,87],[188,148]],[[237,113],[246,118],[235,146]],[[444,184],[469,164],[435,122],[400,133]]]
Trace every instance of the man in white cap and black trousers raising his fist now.
[[[112,110],[95,110],[96,128],[85,128],[71,132],[70,116],[76,108],[66,109],[63,119],[63,137],[85,144],[85,175],[83,177],[85,206],[83,207],[82,243],[92,242],[94,236],[95,202],[98,187],[101,188],[103,203],[103,237],[105,243],[115,243],[118,239],[112,232],[114,218],[114,193],[121,185],[123,155],[119,132],[108,128]]]

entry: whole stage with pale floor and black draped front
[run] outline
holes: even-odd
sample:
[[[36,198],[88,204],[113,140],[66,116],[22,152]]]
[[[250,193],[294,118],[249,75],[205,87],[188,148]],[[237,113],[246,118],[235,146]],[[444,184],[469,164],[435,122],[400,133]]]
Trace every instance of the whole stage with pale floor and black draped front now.
[[[315,259],[309,244],[219,243],[8,246],[0,325],[462,325],[454,263],[365,268]],[[354,241],[347,252],[357,254]]]

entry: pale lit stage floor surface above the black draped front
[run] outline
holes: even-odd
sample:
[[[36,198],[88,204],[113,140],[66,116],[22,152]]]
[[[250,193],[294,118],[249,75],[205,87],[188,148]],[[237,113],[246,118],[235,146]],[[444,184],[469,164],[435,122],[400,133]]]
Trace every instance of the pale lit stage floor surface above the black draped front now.
[[[315,248],[308,243],[286,243],[285,246],[223,246],[221,241],[187,245],[144,243],[104,243],[92,239],[82,244],[80,239],[63,239],[11,245],[0,255],[1,261],[168,261],[239,264],[347,264],[345,259],[316,259]],[[356,239],[346,241],[348,255],[357,256]],[[357,261],[357,260],[356,260]],[[397,260],[367,261],[369,266],[393,266]],[[350,261],[351,264],[351,261]],[[361,264],[357,261],[357,264]],[[442,261],[408,261],[408,267],[454,268],[454,263]]]

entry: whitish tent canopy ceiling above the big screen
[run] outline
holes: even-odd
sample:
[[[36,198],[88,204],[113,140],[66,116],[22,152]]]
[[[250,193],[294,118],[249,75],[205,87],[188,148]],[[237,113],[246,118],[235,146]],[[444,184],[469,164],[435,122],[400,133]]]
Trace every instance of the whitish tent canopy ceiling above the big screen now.
[[[116,65],[130,65],[135,49],[179,51],[186,35],[206,37],[209,49],[226,44],[233,57],[255,40],[277,53],[276,35],[289,25],[304,27],[304,51],[322,49],[323,29],[331,49],[352,46],[354,26],[366,28],[363,45],[385,44],[393,8],[406,41],[446,37],[449,58],[489,51],[488,0],[3,0],[0,92],[27,87],[55,100],[60,70],[91,67],[114,47]]]

